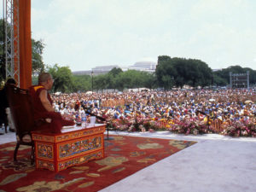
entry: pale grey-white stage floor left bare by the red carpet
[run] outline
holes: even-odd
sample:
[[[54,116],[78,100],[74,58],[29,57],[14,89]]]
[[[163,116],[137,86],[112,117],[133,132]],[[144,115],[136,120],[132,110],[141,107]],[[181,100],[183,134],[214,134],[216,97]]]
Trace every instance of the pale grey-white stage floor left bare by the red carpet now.
[[[254,192],[256,189],[256,138],[234,138],[217,134],[184,136],[169,131],[109,131],[109,134],[189,140],[198,143],[100,190],[101,192]],[[15,142],[14,132],[0,135],[0,143],[9,142]]]

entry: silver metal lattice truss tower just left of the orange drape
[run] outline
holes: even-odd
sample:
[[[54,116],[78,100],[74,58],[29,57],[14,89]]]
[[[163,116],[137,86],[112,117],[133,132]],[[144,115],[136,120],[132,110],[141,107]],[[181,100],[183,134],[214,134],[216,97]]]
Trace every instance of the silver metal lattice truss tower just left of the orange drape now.
[[[6,78],[15,79],[20,86],[19,0],[3,0],[3,3]]]

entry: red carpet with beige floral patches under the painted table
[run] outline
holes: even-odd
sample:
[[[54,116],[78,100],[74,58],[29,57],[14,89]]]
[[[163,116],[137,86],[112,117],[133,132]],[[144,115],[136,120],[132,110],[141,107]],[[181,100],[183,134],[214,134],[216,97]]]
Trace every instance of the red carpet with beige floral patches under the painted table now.
[[[21,146],[13,162],[15,143],[0,149],[0,191],[97,191],[187,148],[195,142],[112,136],[105,141],[105,158],[55,173],[30,166],[30,148]]]

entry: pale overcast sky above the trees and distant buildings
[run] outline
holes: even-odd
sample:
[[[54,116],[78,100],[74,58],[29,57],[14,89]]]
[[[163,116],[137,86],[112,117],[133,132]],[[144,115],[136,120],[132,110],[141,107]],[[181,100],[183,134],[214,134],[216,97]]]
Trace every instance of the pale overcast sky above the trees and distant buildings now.
[[[44,63],[72,71],[200,59],[256,70],[255,0],[32,0],[32,38]]]

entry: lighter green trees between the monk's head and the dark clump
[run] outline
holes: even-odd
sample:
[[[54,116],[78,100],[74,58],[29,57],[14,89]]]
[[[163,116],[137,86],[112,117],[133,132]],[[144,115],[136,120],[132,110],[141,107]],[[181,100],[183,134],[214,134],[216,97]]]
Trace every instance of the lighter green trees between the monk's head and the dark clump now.
[[[52,87],[54,92],[85,92],[88,90],[125,90],[130,88],[145,87],[157,88],[155,75],[153,73],[128,70],[123,72],[114,67],[110,72],[99,75],[73,75],[69,67],[46,67],[51,73],[55,83]],[[32,78],[33,84],[37,84],[37,77]]]

